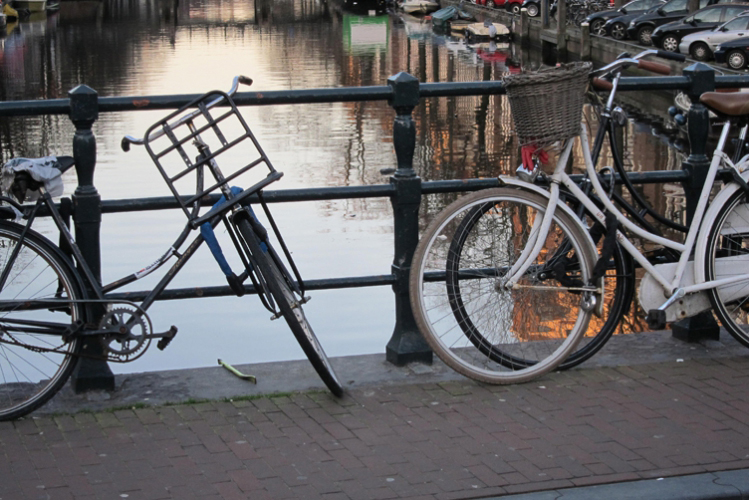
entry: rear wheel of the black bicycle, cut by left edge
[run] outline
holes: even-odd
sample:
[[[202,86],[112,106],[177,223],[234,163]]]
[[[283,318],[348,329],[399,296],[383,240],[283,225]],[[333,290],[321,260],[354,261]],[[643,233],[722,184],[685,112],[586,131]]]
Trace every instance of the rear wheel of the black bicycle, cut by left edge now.
[[[70,376],[80,338],[64,342],[62,330],[85,320],[79,283],[59,249],[23,228],[0,222],[0,420],[21,417],[46,403]],[[16,253],[16,250],[18,252]],[[57,300],[55,307],[35,301]]]

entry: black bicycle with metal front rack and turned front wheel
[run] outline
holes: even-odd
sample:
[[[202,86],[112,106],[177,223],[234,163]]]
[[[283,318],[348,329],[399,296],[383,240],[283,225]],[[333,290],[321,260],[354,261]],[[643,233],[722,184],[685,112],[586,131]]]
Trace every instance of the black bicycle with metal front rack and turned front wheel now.
[[[137,359],[152,340],[164,349],[177,328],[154,332],[146,311],[203,242],[231,290],[238,296],[254,290],[272,313],[271,319],[286,320],[330,391],[343,394],[302,310],[308,300],[304,282],[263,200],[263,188],[283,174],[273,168],[232,100],[239,83],[251,80],[236,77],[228,93],[208,92],[152,125],[143,139],[123,139],[125,151],[130,144],[146,147],[187,224],[156,262],[113,283],[98,283],[44,183],[26,170],[13,174],[9,194],[16,199],[0,197],[10,205],[0,210],[0,217],[20,219],[0,221],[0,420],[21,417],[48,401],[81,356],[95,356],[88,349],[82,351],[84,343],[97,342],[101,355],[96,357],[110,362]],[[222,171],[219,156],[240,166]],[[62,173],[72,166],[72,158],[58,157],[54,168]],[[29,193],[38,196],[36,203],[22,205]],[[256,216],[251,197],[262,207],[283,257]],[[43,211],[60,230],[61,246],[32,229]],[[231,264],[214,232],[219,224],[237,251]],[[196,230],[197,236],[180,250]],[[151,274],[172,257],[176,262],[140,304],[108,298],[110,292]],[[235,273],[232,264],[239,264],[242,271]],[[248,279],[252,288],[245,285]]]

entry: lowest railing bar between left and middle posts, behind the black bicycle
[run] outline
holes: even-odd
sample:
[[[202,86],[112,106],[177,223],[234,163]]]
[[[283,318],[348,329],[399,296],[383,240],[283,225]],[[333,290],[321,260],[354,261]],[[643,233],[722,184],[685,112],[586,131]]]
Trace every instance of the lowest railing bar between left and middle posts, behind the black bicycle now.
[[[382,274],[375,276],[358,276],[350,278],[328,278],[319,280],[304,280],[305,290],[340,290],[344,288],[363,288],[371,286],[392,286],[396,282],[395,275]],[[246,285],[248,294],[257,294],[253,285]],[[150,291],[110,293],[106,295],[109,300],[129,300],[140,302],[148,296]],[[156,300],[182,300],[199,299],[205,297],[230,297],[236,296],[228,286],[207,286],[191,288],[175,288],[164,290]]]

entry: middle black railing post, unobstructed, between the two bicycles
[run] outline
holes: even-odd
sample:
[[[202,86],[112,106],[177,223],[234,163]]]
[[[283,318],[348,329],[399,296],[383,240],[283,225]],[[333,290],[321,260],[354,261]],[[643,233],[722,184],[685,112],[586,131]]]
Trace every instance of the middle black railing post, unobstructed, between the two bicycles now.
[[[419,104],[419,80],[408,73],[388,78],[393,89],[390,105],[395,109],[393,145],[398,168],[390,178],[396,194],[391,198],[394,216],[395,257],[392,271],[396,277],[395,329],[385,348],[386,359],[401,366],[413,361],[432,362],[432,350],[419,333],[408,296],[408,275],[419,242],[419,205],[421,179],[413,168],[416,149],[416,124],[411,112]]]

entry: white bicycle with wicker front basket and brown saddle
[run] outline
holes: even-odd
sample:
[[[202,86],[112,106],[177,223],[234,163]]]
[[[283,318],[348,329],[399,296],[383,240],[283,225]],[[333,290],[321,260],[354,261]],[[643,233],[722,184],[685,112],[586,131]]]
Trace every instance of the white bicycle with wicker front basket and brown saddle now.
[[[574,91],[534,87],[562,79],[568,68],[538,80],[507,82],[524,145],[540,147],[563,138],[550,188],[501,177],[502,187],[477,191],[446,207],[426,229],[412,262],[411,303],[421,333],[453,369],[488,383],[524,382],[556,368],[575,349],[593,314],[602,314],[605,275],[589,234],[590,218],[579,218],[570,200],[585,206],[600,223],[616,224],[616,241],[646,271],[639,299],[654,324],[676,321],[713,308],[723,326],[749,346],[749,155],[737,163],[723,152],[732,126],[749,115],[749,94],[710,92],[701,102],[726,119],[696,212],[683,243],[648,232],[631,222],[610,200],[595,171],[587,132],[580,124],[589,74],[577,68]],[[542,82],[543,84],[549,81]],[[556,84],[555,84],[556,85]],[[571,92],[572,110],[523,124],[513,86],[527,87],[549,113],[567,106],[549,99]],[[521,93],[522,94],[522,93]],[[518,102],[522,103],[522,96]],[[545,103],[545,104],[544,104]],[[570,123],[571,128],[570,128]],[[559,130],[554,130],[558,128]],[[570,131],[572,131],[570,133]],[[586,194],[565,172],[576,138],[593,194]],[[709,202],[721,167],[733,172]],[[564,193],[565,196],[560,197]],[[607,214],[608,217],[607,217]],[[677,262],[653,264],[629,235],[671,249]],[[692,257],[693,256],[693,257]]]

